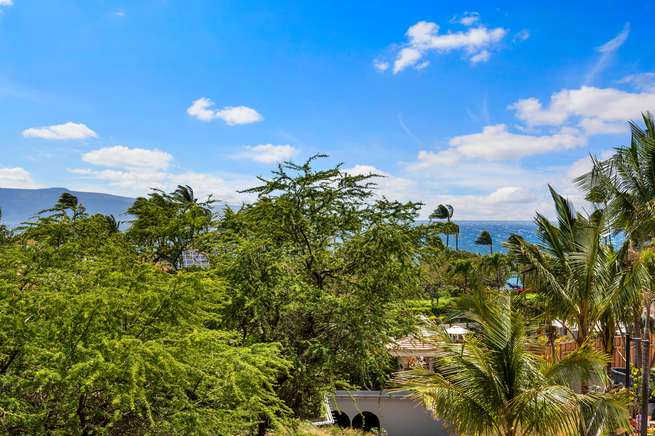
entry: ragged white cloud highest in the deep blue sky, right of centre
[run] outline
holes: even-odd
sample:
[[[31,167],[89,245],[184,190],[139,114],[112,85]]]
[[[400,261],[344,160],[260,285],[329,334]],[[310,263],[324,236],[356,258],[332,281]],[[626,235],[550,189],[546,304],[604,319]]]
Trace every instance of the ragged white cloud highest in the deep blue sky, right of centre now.
[[[474,24],[477,18],[477,16],[471,15],[462,18],[462,20]],[[471,56],[474,63],[485,61],[489,59],[489,52],[485,49],[491,48],[499,43],[505,35],[507,35],[507,31],[502,27],[487,29],[483,25],[468,29],[467,31],[454,33],[448,31],[448,33],[440,35],[437,24],[434,22],[420,21],[414,26],[409,27],[407,33],[405,33],[405,36],[407,36],[407,46],[398,52],[398,57],[396,58],[396,62],[394,62],[394,73],[398,73],[406,67],[416,65],[429,50],[434,50],[438,53],[446,53],[451,50],[464,50]]]

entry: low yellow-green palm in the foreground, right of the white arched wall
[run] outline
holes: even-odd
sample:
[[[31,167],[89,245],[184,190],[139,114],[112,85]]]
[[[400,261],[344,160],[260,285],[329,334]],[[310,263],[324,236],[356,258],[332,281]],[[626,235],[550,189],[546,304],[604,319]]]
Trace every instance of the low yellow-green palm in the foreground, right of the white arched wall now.
[[[580,348],[547,363],[533,354],[533,329],[508,291],[468,291],[455,303],[472,331],[455,344],[445,325],[420,329],[440,357],[397,374],[394,391],[410,391],[454,435],[580,435],[629,430],[627,391],[578,395],[572,381],[605,376],[605,356]]]

